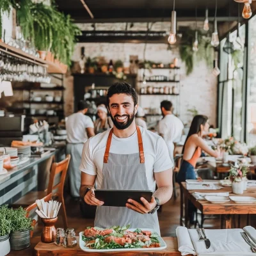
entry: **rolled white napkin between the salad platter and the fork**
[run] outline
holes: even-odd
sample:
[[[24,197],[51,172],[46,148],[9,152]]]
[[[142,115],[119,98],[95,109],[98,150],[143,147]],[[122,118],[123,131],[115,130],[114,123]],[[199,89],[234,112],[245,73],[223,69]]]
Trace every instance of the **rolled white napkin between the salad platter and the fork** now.
[[[181,255],[196,255],[193,244],[191,243],[191,238],[189,236],[188,228],[177,227],[176,236],[178,239],[178,250]]]

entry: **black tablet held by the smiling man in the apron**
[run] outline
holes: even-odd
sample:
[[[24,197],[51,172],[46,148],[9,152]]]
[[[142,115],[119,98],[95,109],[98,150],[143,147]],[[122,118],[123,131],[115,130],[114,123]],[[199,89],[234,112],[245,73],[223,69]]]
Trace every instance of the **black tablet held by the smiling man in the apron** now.
[[[95,197],[104,202],[102,206],[125,207],[128,199],[135,200],[142,204],[140,198],[145,198],[151,202],[153,192],[150,190],[115,190],[115,189],[95,189]]]

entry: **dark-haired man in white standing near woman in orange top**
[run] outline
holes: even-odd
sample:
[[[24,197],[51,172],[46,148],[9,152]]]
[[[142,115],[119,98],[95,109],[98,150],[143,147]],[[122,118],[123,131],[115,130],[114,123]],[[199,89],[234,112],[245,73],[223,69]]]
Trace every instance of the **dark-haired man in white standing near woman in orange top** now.
[[[160,106],[164,118],[159,121],[158,133],[166,142],[169,155],[173,161],[174,143],[180,141],[184,125],[177,116],[173,115],[172,102],[163,100]]]

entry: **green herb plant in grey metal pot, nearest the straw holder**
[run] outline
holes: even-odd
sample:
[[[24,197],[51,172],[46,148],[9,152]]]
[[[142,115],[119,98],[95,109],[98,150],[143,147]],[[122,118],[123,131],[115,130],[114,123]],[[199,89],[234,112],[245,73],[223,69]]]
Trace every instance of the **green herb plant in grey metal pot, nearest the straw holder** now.
[[[21,250],[30,245],[30,230],[33,229],[32,219],[22,207],[10,210],[11,233],[10,246],[12,250]]]

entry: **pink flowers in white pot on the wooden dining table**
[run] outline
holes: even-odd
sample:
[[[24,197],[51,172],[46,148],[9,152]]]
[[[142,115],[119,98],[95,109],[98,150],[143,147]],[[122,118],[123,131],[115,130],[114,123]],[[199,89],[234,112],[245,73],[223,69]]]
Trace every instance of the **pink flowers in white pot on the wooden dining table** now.
[[[244,182],[242,180],[243,173],[241,171],[241,166],[232,166],[228,175],[228,179],[232,182],[232,192],[234,194],[243,194],[244,192]]]

